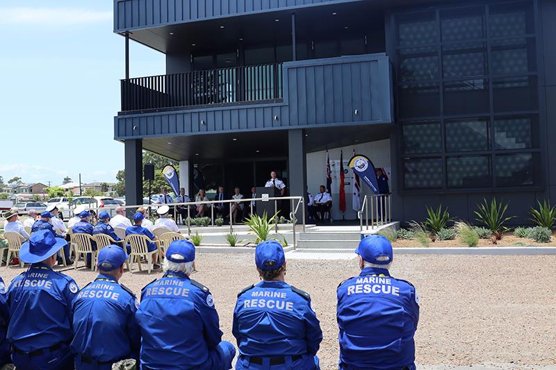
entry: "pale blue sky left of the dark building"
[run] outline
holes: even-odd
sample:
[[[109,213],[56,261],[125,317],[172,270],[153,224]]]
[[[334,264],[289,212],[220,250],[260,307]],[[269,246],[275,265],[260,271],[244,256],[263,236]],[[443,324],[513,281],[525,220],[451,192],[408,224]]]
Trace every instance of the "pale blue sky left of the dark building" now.
[[[112,0],[0,1],[0,176],[58,185],[115,181],[124,37]],[[131,76],[163,74],[162,53],[130,43]]]

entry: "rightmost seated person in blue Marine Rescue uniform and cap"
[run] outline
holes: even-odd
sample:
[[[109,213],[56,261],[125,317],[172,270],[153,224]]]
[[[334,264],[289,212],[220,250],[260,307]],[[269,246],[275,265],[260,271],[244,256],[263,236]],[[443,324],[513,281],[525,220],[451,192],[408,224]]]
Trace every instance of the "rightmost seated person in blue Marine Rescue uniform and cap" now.
[[[365,237],[355,253],[361,274],[337,291],[340,370],[414,370],[415,287],[390,276],[393,251],[386,237]]]

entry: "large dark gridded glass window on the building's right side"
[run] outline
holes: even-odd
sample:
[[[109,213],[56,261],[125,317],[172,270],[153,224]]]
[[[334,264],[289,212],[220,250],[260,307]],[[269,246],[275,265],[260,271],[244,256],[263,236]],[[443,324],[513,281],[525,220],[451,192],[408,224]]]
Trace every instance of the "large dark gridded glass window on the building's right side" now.
[[[440,6],[395,22],[405,188],[539,185],[532,0]]]

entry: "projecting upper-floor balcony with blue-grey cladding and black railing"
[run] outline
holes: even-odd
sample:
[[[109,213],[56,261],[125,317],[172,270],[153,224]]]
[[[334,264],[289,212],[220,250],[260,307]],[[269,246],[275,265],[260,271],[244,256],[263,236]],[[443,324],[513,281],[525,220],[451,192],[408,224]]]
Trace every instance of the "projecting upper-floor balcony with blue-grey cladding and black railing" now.
[[[122,81],[115,139],[389,124],[384,53]]]

